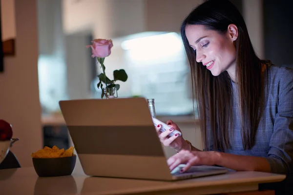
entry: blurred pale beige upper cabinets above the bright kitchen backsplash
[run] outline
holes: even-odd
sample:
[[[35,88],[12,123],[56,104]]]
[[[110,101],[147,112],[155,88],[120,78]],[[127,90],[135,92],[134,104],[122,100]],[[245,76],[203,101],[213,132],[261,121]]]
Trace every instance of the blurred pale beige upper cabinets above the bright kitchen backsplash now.
[[[178,32],[180,23],[203,0],[63,0],[64,32],[91,31],[95,38],[144,31]]]

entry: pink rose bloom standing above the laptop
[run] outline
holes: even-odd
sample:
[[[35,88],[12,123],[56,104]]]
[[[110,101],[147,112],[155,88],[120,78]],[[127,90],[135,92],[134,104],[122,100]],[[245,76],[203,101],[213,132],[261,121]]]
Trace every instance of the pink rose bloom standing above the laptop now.
[[[113,43],[111,39],[94,39],[92,45],[86,45],[86,48],[92,48],[92,58],[105,58],[111,54]]]

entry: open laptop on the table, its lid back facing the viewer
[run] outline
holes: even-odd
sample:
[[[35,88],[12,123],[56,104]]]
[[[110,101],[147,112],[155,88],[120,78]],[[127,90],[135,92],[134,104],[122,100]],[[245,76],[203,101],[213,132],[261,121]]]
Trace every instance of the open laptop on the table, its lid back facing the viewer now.
[[[224,174],[213,166],[184,164],[170,172],[145,98],[76,99],[59,102],[84,173],[172,181]]]

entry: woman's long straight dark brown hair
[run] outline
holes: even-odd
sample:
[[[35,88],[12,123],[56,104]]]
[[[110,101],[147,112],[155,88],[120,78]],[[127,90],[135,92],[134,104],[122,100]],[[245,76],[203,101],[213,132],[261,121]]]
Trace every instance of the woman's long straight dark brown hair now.
[[[188,46],[186,25],[201,24],[209,30],[225,34],[230,24],[238,28],[236,47],[236,73],[238,99],[241,113],[241,135],[243,148],[251,149],[264,108],[261,60],[256,56],[243,17],[229,0],[207,0],[195,8],[182,22],[181,35],[187,53],[193,91],[205,149],[213,139],[215,150],[230,148],[233,136],[233,94],[231,79],[227,71],[214,77],[210,71],[196,62],[196,53]],[[207,125],[211,132],[207,132]],[[211,136],[211,137],[210,137]]]

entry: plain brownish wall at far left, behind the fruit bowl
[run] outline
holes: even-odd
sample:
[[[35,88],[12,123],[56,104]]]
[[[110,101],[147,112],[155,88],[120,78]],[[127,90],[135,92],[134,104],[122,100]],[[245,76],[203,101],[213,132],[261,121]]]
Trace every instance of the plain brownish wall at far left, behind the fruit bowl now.
[[[13,137],[20,138],[12,152],[21,166],[27,167],[32,166],[31,153],[42,147],[36,0],[1,0],[1,6],[5,10],[1,13],[2,29],[6,37],[16,37],[16,56],[4,58],[4,73],[0,74],[0,118],[10,122]],[[15,32],[12,24],[16,26]]]

